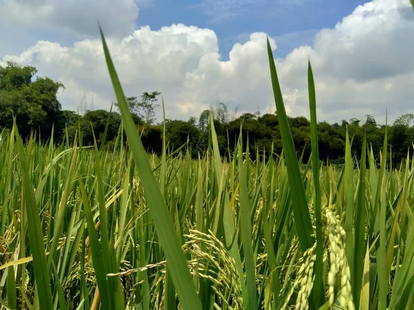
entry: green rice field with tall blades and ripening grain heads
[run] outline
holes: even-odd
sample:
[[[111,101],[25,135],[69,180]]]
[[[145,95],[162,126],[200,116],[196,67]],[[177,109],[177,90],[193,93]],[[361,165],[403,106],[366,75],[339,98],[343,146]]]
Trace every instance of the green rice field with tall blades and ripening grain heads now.
[[[319,165],[310,63],[310,162],[270,46],[283,154],[221,158],[210,121],[198,160],[165,140],[158,157],[102,40],[127,141],[0,140],[0,309],[414,309],[413,158],[392,167],[386,138],[353,158],[347,136],[344,166]]]

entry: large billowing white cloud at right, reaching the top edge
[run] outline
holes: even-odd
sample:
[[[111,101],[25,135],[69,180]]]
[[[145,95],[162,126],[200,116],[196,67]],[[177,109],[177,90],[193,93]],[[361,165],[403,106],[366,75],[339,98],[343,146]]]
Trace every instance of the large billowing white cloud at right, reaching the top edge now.
[[[335,28],[317,33],[313,46],[293,50],[278,65],[285,92],[306,106],[304,65],[310,57],[319,111],[324,118],[373,114],[391,118],[413,111],[411,100],[414,15],[404,0],[374,0],[358,6]],[[302,78],[299,77],[302,72]]]

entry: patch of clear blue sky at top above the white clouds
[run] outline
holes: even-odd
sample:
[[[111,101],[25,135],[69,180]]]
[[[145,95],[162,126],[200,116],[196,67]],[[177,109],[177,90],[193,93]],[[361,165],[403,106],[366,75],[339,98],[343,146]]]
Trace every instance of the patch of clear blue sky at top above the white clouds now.
[[[228,8],[221,3],[227,3]],[[288,4],[290,2],[290,4]],[[142,6],[136,25],[152,30],[184,23],[210,28],[219,39],[223,60],[237,42],[248,40],[252,32],[266,32],[275,37],[275,56],[286,56],[300,45],[311,44],[315,33],[332,28],[343,17],[366,1],[361,0],[224,0],[168,1],[154,0]],[[232,12],[233,11],[233,12]]]

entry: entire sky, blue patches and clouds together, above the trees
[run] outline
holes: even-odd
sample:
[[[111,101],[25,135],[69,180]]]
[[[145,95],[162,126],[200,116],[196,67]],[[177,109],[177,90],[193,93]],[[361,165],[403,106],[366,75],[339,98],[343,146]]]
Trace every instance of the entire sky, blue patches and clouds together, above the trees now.
[[[309,115],[308,60],[318,121],[414,113],[409,0],[0,0],[0,65],[61,81],[63,109],[109,109],[98,22],[126,96],[161,92],[170,119],[275,112],[266,36],[289,116]]]

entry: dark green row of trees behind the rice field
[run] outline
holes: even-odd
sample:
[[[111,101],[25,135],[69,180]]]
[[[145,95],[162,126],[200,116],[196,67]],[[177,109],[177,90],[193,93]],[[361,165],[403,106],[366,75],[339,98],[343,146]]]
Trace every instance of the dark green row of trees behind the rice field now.
[[[114,147],[115,138],[121,126],[121,115],[115,111],[86,110],[83,115],[62,110],[57,100],[57,92],[64,87],[59,81],[48,77],[37,77],[36,68],[21,66],[8,62],[0,65],[0,132],[7,132],[16,118],[17,128],[23,138],[35,133],[41,141],[62,143],[65,139],[73,141],[77,132],[81,132],[83,145],[103,142],[105,146]],[[208,149],[210,138],[210,112],[213,115],[219,148],[223,156],[233,152],[242,125],[244,145],[248,144],[250,154],[255,158],[269,156],[282,151],[279,122],[276,114],[242,114],[230,112],[227,105],[217,103],[202,112],[198,118],[188,121],[166,119],[155,123],[155,112],[159,108],[160,92],[144,92],[126,98],[132,117],[141,134],[141,141],[149,152],[161,153],[164,125],[166,141],[172,152],[183,145],[188,147],[191,156],[197,157]],[[412,150],[414,141],[414,115],[404,114],[388,126],[388,143],[391,147],[393,163],[399,163]],[[290,130],[299,154],[308,158],[311,154],[310,122],[304,116],[289,117]],[[384,141],[385,125],[379,125],[375,118],[366,115],[360,120],[351,118],[340,123],[318,123],[319,158],[331,163],[344,162],[346,130],[352,138],[352,151],[357,158],[361,156],[364,134],[373,149],[376,158]],[[247,143],[248,142],[248,143]],[[258,150],[259,152],[256,152]]]

